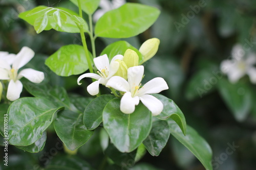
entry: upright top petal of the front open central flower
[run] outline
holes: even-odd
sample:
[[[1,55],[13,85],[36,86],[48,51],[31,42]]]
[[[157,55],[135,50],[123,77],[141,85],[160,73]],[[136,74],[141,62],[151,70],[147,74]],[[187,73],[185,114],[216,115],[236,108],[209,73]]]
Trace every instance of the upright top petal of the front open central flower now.
[[[130,84],[130,89],[139,86],[144,74],[144,66],[134,66],[127,69],[127,79]]]

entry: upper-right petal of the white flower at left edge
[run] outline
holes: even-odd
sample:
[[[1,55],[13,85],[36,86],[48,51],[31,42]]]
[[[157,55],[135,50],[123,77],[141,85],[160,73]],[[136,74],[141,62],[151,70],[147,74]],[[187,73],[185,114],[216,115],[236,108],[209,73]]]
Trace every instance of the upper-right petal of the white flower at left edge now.
[[[24,46],[22,50],[16,55],[12,64],[12,68],[19,69],[26,65],[35,55],[35,52],[31,48]]]

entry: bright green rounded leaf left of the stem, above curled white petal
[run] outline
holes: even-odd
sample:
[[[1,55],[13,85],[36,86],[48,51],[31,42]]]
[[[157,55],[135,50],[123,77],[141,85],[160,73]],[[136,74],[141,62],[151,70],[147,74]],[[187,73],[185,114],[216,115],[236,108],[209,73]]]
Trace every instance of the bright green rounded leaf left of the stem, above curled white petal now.
[[[46,65],[58,76],[79,75],[89,68],[83,47],[75,44],[60,47]]]

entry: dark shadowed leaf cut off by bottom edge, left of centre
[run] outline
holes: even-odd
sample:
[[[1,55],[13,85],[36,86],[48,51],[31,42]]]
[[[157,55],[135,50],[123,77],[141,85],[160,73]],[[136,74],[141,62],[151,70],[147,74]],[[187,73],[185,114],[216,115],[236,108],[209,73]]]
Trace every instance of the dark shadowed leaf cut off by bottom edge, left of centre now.
[[[85,160],[77,156],[55,156],[46,166],[46,170],[94,170]]]

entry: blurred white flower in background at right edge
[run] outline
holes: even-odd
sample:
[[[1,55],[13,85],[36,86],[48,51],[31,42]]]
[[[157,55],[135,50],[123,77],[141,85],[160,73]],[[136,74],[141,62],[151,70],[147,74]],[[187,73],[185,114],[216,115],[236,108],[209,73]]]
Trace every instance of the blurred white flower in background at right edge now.
[[[231,83],[238,82],[246,74],[252,83],[256,83],[256,55],[250,53],[245,58],[245,51],[240,44],[233,47],[231,52],[232,59],[224,60],[221,63],[221,70],[228,76]]]

